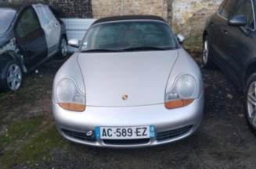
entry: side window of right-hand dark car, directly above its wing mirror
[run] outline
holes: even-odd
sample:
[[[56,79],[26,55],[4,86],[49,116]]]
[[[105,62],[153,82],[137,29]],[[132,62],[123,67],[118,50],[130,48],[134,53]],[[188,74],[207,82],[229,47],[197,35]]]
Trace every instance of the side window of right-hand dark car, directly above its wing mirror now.
[[[235,15],[244,15],[247,18],[247,28],[254,30],[254,11],[251,0],[240,0]]]

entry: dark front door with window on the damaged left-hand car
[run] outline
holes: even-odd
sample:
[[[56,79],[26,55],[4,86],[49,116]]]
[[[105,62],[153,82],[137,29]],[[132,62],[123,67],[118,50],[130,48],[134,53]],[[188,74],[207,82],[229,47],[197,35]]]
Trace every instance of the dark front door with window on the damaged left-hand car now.
[[[28,69],[36,66],[47,56],[47,44],[44,30],[41,29],[34,9],[23,9],[15,23],[16,39],[23,51],[24,64]]]

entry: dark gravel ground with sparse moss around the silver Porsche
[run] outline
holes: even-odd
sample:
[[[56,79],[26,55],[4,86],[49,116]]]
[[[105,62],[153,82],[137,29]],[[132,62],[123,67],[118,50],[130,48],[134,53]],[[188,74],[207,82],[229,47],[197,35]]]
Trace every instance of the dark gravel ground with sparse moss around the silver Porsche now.
[[[200,54],[192,55],[201,68]],[[0,136],[6,137],[6,131],[16,121],[41,119],[40,125],[26,133],[26,136],[14,139],[12,143],[2,141],[4,143],[2,153],[0,146],[0,166],[111,169],[256,168],[255,136],[247,128],[244,118],[243,95],[236,91],[236,86],[219,69],[201,69],[205,86],[204,118],[193,136],[163,146],[115,150],[70,143],[56,132],[52,121],[50,97],[53,76],[63,62],[53,59],[46,62],[40,66],[39,74],[31,73],[26,77],[22,90],[2,94],[0,97],[0,114],[4,114],[0,115]],[[46,134],[40,137],[42,132],[49,129],[54,129],[53,136],[47,138]],[[52,137],[56,138],[56,142],[52,141],[55,140]],[[39,144],[43,150],[38,149],[38,143],[31,141],[33,138],[41,138],[38,142],[44,140],[44,143]],[[34,151],[32,155],[22,151],[29,149]],[[8,153],[10,150],[14,153]]]

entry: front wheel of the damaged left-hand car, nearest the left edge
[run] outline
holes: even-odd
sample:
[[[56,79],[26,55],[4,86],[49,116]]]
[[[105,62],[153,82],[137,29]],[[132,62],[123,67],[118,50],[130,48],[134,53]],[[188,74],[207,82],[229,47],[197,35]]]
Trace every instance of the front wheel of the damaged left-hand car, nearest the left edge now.
[[[6,60],[1,70],[1,92],[20,90],[23,83],[23,73],[20,65],[14,60]]]

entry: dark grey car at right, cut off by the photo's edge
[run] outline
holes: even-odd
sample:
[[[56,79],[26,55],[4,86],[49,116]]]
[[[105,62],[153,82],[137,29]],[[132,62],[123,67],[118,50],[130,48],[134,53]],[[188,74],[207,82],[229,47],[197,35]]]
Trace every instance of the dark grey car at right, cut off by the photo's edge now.
[[[207,20],[203,61],[206,69],[218,65],[245,93],[247,122],[256,134],[255,0],[225,0]]]

